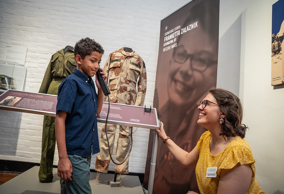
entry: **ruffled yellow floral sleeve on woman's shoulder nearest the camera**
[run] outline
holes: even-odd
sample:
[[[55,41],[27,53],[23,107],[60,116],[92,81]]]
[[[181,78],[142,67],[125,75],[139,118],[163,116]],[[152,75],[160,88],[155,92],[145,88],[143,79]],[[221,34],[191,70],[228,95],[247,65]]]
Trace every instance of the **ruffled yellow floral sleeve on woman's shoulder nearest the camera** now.
[[[231,169],[238,163],[241,165],[250,164],[254,176],[254,156],[252,154],[251,147],[244,139],[240,137],[235,138],[229,144],[229,147],[224,150],[223,156],[225,158],[224,160],[221,160],[222,163],[220,164],[219,169]]]

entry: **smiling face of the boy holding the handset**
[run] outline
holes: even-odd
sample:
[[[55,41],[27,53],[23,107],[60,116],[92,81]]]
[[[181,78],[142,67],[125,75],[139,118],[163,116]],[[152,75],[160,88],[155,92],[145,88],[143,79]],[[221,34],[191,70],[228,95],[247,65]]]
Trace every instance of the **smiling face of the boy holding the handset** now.
[[[100,68],[103,54],[93,51],[91,55],[86,55],[83,59],[80,55],[76,55],[77,69],[85,75],[93,77]]]

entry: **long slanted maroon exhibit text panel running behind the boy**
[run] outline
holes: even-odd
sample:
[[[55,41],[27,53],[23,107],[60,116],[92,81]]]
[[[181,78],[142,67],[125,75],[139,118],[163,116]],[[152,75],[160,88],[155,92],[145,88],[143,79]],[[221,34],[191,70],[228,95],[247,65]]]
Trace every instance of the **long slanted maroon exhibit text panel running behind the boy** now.
[[[30,93],[17,90],[7,90],[0,95],[0,109],[24,113],[55,116],[57,96],[41,93]],[[109,103],[103,102],[103,107],[97,121],[106,122]],[[108,123],[157,129],[159,127],[155,108],[146,108],[126,104],[110,103]]]

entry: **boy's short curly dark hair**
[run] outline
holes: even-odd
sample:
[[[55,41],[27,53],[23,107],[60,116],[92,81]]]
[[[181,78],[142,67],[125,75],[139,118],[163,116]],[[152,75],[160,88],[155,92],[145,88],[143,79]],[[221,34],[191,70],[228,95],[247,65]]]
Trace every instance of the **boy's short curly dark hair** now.
[[[85,38],[79,40],[74,47],[74,56],[80,55],[81,58],[85,58],[87,55],[91,55],[92,52],[97,51],[100,54],[104,53],[103,47],[94,41],[94,39]]]

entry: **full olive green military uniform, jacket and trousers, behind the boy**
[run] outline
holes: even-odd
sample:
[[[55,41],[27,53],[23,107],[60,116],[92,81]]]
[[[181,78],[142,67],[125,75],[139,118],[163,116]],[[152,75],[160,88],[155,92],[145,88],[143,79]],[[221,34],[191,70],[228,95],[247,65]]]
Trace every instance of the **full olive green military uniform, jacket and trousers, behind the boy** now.
[[[65,47],[54,53],[45,71],[39,93],[58,94],[58,87],[64,78],[73,73],[77,63],[73,47]],[[65,53],[64,53],[65,51]],[[39,181],[52,182],[53,159],[55,152],[55,117],[44,116],[42,126],[42,154],[39,166]]]

